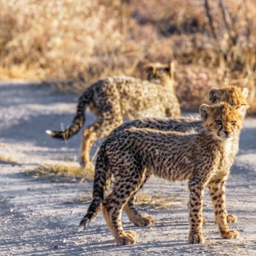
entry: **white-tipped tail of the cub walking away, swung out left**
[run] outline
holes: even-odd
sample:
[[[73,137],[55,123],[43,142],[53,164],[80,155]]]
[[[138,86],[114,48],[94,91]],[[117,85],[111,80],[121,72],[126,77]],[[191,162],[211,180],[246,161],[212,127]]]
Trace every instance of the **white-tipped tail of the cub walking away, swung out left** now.
[[[90,88],[86,90],[81,97],[79,97],[77,104],[76,116],[74,117],[72,124],[67,127],[64,131],[51,131],[46,130],[45,132],[49,134],[52,138],[60,139],[60,140],[68,140],[70,137],[74,136],[79,132],[79,130],[83,127],[85,122],[84,111],[88,104],[92,99],[92,92]]]

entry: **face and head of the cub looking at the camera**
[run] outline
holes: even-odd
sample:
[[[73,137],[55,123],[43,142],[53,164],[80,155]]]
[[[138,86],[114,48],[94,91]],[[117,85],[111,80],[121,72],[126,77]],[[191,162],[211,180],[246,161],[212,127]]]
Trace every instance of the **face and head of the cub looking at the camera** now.
[[[211,106],[202,104],[199,111],[204,127],[218,140],[228,141],[240,133],[246,106],[230,106],[225,102],[220,102]]]

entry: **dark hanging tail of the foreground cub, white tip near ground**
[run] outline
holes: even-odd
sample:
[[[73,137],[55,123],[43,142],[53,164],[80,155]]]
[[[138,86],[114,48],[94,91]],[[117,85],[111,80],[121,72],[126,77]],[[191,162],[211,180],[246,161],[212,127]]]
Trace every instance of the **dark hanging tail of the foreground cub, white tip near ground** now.
[[[100,147],[96,164],[95,175],[93,180],[93,200],[90,204],[86,215],[80,221],[78,232],[84,230],[88,224],[93,221],[99,214],[102,200],[104,199],[104,191],[108,189],[111,180],[111,172],[108,169],[108,159],[104,145]]]

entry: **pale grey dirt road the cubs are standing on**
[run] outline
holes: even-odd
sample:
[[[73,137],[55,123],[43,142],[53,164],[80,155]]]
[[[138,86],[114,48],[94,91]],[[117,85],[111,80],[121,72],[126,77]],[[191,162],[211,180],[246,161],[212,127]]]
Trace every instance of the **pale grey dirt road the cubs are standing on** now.
[[[0,255],[256,255],[256,118],[246,118],[239,154],[227,182],[228,212],[238,221],[238,239],[221,239],[205,191],[205,244],[189,244],[186,182],[152,177],[143,193],[174,195],[170,209],[141,210],[153,216],[152,227],[135,227],[123,216],[124,228],[137,232],[137,243],[116,246],[102,214],[81,233],[79,221],[88,203],[75,198],[92,194],[92,182],[35,179],[26,175],[40,164],[74,163],[81,132],[68,141],[49,138],[45,129],[70,124],[77,95],[31,84],[0,83]],[[93,122],[86,113],[86,125]],[[67,204],[67,201],[74,201]]]

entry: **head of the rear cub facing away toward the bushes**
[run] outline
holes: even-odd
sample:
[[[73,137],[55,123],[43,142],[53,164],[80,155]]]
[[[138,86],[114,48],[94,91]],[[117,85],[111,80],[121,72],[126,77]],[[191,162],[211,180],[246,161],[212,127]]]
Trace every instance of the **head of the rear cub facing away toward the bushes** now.
[[[150,63],[146,67],[147,79],[160,81],[174,81],[174,63],[170,62],[168,65],[162,63]]]

